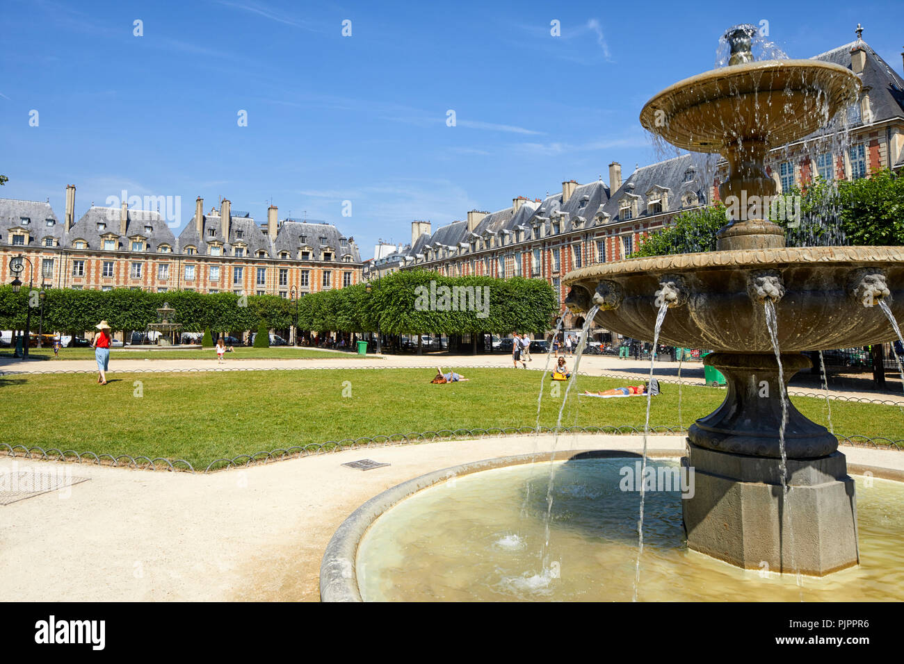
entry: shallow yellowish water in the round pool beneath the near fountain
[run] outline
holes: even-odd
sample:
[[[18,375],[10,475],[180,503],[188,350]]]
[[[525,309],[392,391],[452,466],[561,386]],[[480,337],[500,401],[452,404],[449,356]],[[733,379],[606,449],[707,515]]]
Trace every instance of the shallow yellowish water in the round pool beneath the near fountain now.
[[[365,534],[367,601],[630,601],[640,495],[621,491],[635,459],[555,462],[551,565],[541,567],[549,463],[476,472],[388,510]],[[676,461],[651,460],[674,468]],[[678,491],[648,491],[641,601],[904,599],[904,484],[857,482],[861,565],[824,578],[741,570],[690,551]],[[793,491],[792,491],[793,494]],[[794,500],[792,495],[791,500]],[[793,509],[793,502],[792,502]]]

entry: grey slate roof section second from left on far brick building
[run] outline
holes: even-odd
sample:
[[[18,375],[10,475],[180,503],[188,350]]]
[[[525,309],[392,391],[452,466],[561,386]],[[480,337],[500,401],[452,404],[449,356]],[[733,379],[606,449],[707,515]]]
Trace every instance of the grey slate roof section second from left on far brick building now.
[[[119,235],[119,215],[119,208],[92,205],[70,229],[65,238],[65,246],[71,248],[73,242],[83,239],[88,243],[89,249],[102,249],[101,236],[108,233]],[[146,226],[150,226],[150,231],[146,230]],[[127,251],[128,238],[135,235],[147,238],[147,251],[156,252],[162,244],[169,245],[172,251],[176,250],[173,231],[166,225],[160,212],[155,210],[128,210],[126,233],[118,239],[118,251]]]

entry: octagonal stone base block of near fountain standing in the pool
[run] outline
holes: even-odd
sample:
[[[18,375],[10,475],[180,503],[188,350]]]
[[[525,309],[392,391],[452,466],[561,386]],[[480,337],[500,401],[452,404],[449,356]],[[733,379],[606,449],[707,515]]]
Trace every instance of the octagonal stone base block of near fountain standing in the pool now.
[[[781,460],[717,452],[689,440],[687,545],[746,569],[823,576],[860,562],[854,482],[844,454]]]

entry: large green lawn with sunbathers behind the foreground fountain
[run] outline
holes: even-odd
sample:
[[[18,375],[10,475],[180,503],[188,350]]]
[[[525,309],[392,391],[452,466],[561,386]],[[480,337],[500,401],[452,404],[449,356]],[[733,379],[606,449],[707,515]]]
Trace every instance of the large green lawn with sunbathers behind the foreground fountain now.
[[[93,375],[5,376],[0,430],[8,444],[181,458],[203,468],[219,457],[364,435],[534,426],[539,371],[459,370],[472,380],[430,385],[430,369],[114,374],[103,387]],[[579,377],[563,426],[642,427],[643,397],[575,397],[579,390],[623,382]],[[139,387],[142,397],[134,396]],[[651,426],[688,426],[724,396],[722,390],[685,386],[679,423],[678,386],[663,388],[653,400]],[[351,396],[344,397],[349,389]],[[551,397],[550,380],[544,391],[541,425],[553,426],[561,397]],[[825,424],[823,400],[794,402]],[[835,401],[832,417],[839,435],[904,439],[898,407]]]

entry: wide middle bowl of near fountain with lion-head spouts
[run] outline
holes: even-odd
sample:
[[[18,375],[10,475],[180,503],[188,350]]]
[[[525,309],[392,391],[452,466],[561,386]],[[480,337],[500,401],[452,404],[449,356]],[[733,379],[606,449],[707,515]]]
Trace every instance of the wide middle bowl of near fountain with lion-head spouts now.
[[[758,280],[774,281],[783,295],[757,292]],[[652,341],[656,293],[664,282],[675,284],[678,297],[659,338],[686,348],[773,352],[764,295],[776,308],[782,352],[892,341],[895,332],[876,305],[880,299],[896,318],[904,317],[904,247],[744,249],[629,258],[570,272],[565,276],[571,288],[565,304],[575,313],[601,304],[596,325]]]

